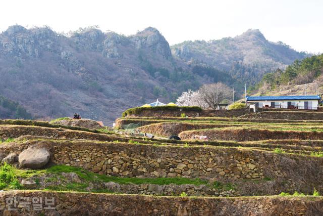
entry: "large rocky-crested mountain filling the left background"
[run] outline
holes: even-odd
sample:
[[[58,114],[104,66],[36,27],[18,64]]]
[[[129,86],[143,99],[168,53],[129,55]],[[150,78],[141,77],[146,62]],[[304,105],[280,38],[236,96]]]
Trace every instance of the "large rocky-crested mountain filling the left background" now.
[[[12,26],[0,34],[0,65],[1,94],[36,117],[79,112],[112,121],[125,108],[169,101],[201,81],[154,28],[128,37],[88,28],[67,37]]]

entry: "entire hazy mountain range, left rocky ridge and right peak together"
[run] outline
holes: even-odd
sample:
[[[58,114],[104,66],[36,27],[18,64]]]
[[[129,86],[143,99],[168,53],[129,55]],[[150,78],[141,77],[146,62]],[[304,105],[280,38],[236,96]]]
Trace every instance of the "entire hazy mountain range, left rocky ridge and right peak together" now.
[[[95,27],[64,35],[15,25],[0,34],[0,95],[34,118],[78,112],[111,123],[127,108],[175,101],[203,83],[223,81],[238,92],[246,77],[257,80],[304,55],[255,30],[170,47],[152,27],[125,36]]]

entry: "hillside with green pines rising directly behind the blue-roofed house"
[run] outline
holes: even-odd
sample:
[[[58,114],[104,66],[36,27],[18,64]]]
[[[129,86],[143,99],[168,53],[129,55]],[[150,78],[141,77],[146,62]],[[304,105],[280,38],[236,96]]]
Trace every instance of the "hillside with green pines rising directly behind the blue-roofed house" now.
[[[253,95],[317,95],[323,91],[323,54],[296,60],[285,70],[265,74],[249,93]]]

